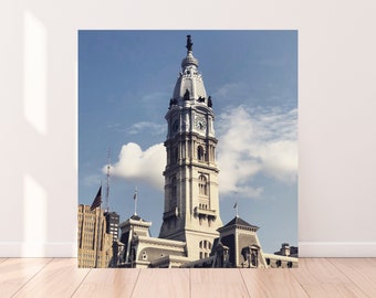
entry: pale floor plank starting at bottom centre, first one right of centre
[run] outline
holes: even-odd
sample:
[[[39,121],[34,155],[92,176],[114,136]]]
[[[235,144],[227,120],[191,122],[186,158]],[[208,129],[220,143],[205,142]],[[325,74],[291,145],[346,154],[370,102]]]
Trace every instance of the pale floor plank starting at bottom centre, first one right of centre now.
[[[239,269],[190,269],[191,297],[250,297]]]

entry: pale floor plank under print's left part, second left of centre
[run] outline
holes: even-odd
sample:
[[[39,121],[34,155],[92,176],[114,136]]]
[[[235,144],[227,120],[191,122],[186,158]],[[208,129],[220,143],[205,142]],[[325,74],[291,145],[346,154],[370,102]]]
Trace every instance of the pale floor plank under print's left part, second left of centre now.
[[[72,297],[132,297],[139,272],[140,269],[91,269]]]

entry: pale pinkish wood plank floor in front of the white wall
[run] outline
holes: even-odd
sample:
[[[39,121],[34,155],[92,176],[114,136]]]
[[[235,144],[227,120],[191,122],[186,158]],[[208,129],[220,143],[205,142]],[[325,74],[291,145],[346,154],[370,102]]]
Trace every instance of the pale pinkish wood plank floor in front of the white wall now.
[[[79,269],[75,258],[0,258],[0,297],[376,297],[376,258],[301,258],[299,269]]]

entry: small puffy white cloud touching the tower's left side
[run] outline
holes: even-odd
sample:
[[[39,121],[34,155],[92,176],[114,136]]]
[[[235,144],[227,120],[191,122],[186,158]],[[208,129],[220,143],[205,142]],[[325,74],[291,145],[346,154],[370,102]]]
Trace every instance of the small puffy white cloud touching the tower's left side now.
[[[166,166],[166,150],[163,143],[154,145],[145,151],[134,142],[123,145],[118,161],[111,167],[111,173],[133,181],[143,181],[161,190],[163,171]],[[106,167],[103,168],[106,172]]]

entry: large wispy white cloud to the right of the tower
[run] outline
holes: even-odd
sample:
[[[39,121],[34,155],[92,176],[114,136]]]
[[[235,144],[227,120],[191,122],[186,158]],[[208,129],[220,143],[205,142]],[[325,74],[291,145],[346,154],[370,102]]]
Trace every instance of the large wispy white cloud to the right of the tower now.
[[[286,183],[296,181],[297,110],[229,108],[218,116],[218,163],[221,193],[238,192],[255,198],[251,188],[257,174]]]

